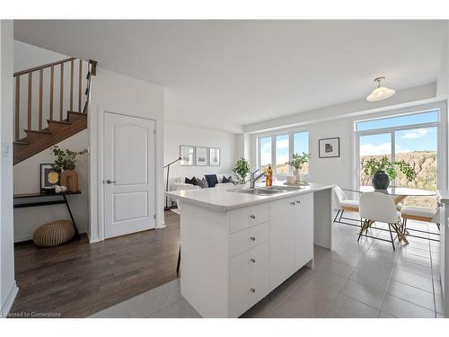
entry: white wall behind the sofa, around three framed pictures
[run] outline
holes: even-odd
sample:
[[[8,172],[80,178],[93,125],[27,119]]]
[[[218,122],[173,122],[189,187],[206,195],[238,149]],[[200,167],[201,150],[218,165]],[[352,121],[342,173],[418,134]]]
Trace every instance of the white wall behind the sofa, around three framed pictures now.
[[[236,135],[233,133],[195,128],[186,125],[164,124],[163,163],[168,164],[180,156],[180,145],[207,146],[220,148],[220,166],[181,166],[179,163],[170,167],[170,178],[203,176],[204,174],[232,173],[236,158]],[[166,171],[164,172],[164,177]],[[220,177],[221,178],[221,177]]]

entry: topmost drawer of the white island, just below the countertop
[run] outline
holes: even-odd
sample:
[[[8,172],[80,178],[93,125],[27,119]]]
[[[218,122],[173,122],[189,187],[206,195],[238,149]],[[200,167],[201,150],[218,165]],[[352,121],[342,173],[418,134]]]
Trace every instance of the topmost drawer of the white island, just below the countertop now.
[[[229,215],[229,233],[269,221],[268,203],[233,209]]]

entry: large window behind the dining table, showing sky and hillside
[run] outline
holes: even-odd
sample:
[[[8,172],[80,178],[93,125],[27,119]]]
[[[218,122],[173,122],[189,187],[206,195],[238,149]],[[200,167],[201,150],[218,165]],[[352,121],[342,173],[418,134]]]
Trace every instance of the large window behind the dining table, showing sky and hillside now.
[[[386,155],[391,160],[404,160],[417,173],[412,182],[407,182],[400,173],[393,185],[435,191],[438,188],[438,128],[438,111],[358,121],[360,185],[371,184],[371,179],[362,169],[365,161]],[[407,205],[434,207],[436,199],[408,197],[404,202]]]

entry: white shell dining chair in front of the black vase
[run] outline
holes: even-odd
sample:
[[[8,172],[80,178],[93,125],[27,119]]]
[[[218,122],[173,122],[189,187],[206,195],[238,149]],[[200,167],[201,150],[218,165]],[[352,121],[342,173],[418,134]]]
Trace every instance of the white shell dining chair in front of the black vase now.
[[[370,237],[376,240],[382,240],[392,243],[393,251],[396,250],[394,246],[394,239],[392,232],[394,231],[401,240],[401,218],[400,214],[392,200],[391,196],[381,192],[365,192],[360,195],[360,217],[364,220],[362,228],[357,238],[357,242],[361,236]],[[367,235],[367,230],[374,224],[374,222],[383,222],[388,224],[391,240],[386,240],[381,237]],[[364,231],[366,234],[364,235]]]

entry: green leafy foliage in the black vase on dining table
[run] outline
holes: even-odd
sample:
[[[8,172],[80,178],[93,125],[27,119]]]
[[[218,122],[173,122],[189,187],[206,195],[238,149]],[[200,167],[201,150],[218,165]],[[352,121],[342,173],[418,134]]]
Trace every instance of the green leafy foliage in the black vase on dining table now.
[[[404,160],[392,162],[386,155],[383,155],[380,160],[375,158],[366,160],[363,170],[370,178],[373,178],[374,174],[379,171],[384,171],[393,180],[396,179],[399,172],[404,173],[407,182],[413,181],[416,176],[415,170],[410,164],[406,163]]]

